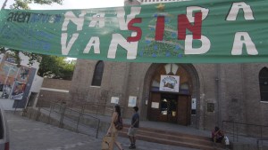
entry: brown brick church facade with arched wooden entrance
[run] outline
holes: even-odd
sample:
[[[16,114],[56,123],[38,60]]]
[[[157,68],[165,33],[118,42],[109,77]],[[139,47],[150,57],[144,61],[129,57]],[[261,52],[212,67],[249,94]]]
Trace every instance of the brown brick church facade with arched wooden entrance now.
[[[126,1],[125,4],[162,1]],[[268,125],[268,63],[129,63],[78,59],[70,93],[105,109],[121,105],[130,118],[211,130],[232,126],[247,134]],[[73,98],[73,96],[71,96]],[[267,130],[267,129],[266,129]]]

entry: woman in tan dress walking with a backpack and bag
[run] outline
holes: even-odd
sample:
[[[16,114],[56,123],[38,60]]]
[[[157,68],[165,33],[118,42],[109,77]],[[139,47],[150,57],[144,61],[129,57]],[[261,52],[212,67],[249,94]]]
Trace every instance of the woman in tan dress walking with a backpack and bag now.
[[[123,150],[123,148],[121,147],[121,144],[118,141],[116,141],[117,136],[118,136],[118,130],[116,130],[114,126],[114,122],[117,122],[117,119],[119,117],[121,117],[121,108],[119,105],[116,105],[114,106],[112,121],[111,121],[111,124],[107,131],[106,136],[112,136],[115,146],[117,146],[120,150]]]

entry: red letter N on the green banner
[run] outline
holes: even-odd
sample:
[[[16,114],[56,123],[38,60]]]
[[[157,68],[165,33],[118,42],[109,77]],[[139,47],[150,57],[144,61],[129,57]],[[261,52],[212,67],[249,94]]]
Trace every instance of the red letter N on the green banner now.
[[[201,28],[202,28],[202,12],[195,13],[195,25],[191,25],[185,14],[180,14],[178,16],[178,39],[185,40],[186,29],[192,31],[193,39],[201,38]]]

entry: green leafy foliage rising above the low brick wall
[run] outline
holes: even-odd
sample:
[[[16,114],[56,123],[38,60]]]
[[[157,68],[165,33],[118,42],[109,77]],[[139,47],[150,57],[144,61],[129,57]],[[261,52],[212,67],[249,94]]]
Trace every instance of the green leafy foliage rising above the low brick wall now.
[[[75,61],[68,62],[66,58],[44,55],[39,65],[38,75],[42,77],[71,80]]]

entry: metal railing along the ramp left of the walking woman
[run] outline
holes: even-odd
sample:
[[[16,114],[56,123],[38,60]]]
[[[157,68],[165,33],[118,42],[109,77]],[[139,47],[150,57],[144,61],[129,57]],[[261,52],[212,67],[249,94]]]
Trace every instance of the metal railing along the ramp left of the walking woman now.
[[[41,111],[45,110],[48,112],[48,120],[47,123],[51,123],[51,119],[56,117],[59,120],[58,126],[60,128],[63,128],[63,126],[69,126],[71,129],[74,129],[77,132],[80,131],[81,127],[83,129],[81,130],[88,130],[87,128],[93,128],[96,129],[96,138],[98,136],[99,131],[99,125],[100,125],[100,119],[96,116],[92,116],[89,114],[83,113],[81,110],[74,110],[72,108],[67,107],[65,104],[58,104],[55,102],[50,102],[50,107],[38,107],[38,114],[36,120],[38,120],[38,117],[41,114]],[[86,119],[93,120],[90,123],[86,122]],[[86,134],[85,132],[82,132]]]

